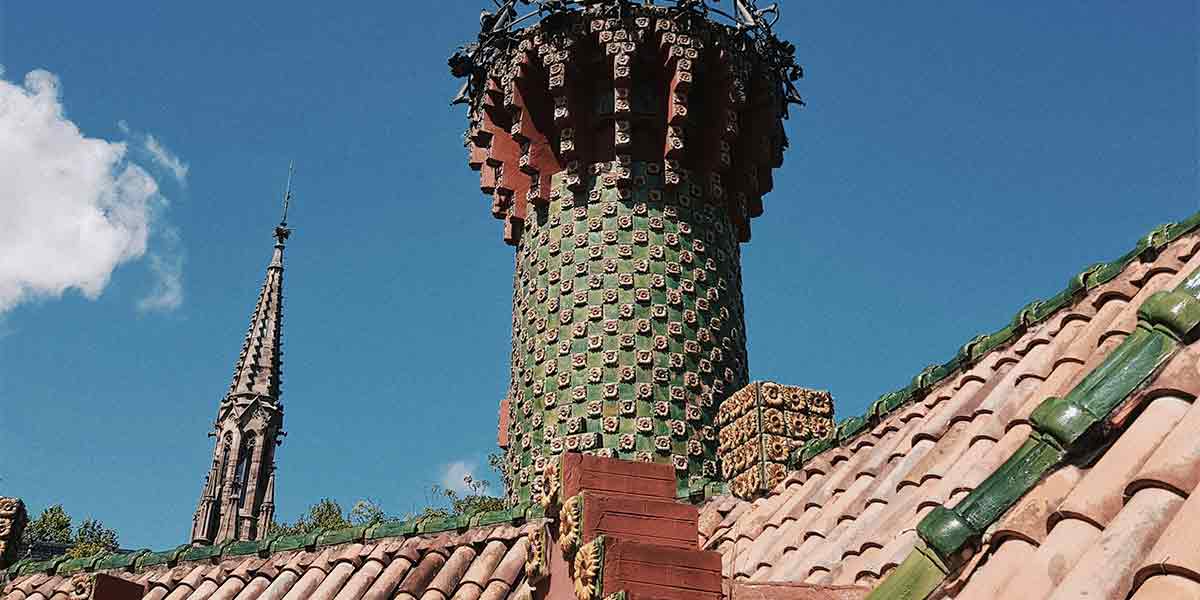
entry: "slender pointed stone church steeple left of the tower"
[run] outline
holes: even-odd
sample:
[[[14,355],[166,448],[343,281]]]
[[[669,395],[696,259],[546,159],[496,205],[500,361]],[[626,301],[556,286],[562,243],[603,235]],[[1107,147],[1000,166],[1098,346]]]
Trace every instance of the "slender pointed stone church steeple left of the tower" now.
[[[283,217],[258,294],[250,330],[234,365],[229,391],[217,408],[212,464],[192,521],[192,544],[258,540],[275,512],[275,446],[282,442],[280,401],[283,352],[283,248],[292,234],[288,205],[292,168],[283,193]]]

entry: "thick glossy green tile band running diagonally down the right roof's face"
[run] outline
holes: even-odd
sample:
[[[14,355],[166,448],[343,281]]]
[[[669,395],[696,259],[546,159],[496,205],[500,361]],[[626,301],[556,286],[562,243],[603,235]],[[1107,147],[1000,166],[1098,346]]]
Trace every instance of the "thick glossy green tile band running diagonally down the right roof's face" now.
[[[1146,238],[1150,240],[1146,247],[1154,247],[1156,240],[1164,238],[1165,234],[1152,233]],[[1188,274],[1175,289],[1147,298],[1138,310],[1138,326],[1099,366],[1064,397],[1046,398],[1033,410],[1030,416],[1033,432],[1012,457],[953,509],[938,506],[920,521],[917,535],[930,557],[948,565],[944,572],[965,564],[979,550],[984,532],[1038,481],[1068,460],[1090,457],[1104,448],[1111,433],[1109,415],[1146,385],[1186,343],[1198,337],[1200,269]],[[920,563],[920,559],[913,560]],[[892,586],[889,580],[893,577],[924,583],[931,576],[925,568],[916,575],[896,571],[884,580],[881,589]],[[893,587],[917,589],[907,580],[898,580]],[[936,587],[929,588],[926,594]]]

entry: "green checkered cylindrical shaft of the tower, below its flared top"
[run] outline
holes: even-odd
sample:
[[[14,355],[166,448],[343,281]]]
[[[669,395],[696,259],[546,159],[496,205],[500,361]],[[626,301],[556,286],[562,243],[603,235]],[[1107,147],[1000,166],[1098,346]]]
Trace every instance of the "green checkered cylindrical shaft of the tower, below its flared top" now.
[[[569,187],[570,186],[570,187]],[[574,187],[574,190],[571,188]],[[680,496],[719,480],[716,407],[748,380],[737,234],[661,163],[553,179],[517,246],[508,468],[538,499],[564,450],[672,463]]]

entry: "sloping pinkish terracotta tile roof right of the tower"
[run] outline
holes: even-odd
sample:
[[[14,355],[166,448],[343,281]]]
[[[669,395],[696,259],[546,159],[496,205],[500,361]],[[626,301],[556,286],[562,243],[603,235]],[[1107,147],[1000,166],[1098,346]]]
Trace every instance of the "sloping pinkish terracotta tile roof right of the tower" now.
[[[923,373],[941,368],[940,380],[918,376],[907,402],[884,396],[800,452],[768,496],[709,502],[702,545],[736,581],[876,584],[913,552],[928,514],[955,506],[1031,437],[1034,408],[1066,396],[1134,331],[1148,296],[1200,268],[1196,224],[1157,229],[1088,269],[1055,310],[1024,324],[1022,310],[1002,330],[1008,340],[973,356],[968,344],[970,360],[960,353],[954,368]],[[1200,347],[1182,352],[1142,389],[1152,396],[1115,443],[1021,496],[938,598],[1200,598]]]

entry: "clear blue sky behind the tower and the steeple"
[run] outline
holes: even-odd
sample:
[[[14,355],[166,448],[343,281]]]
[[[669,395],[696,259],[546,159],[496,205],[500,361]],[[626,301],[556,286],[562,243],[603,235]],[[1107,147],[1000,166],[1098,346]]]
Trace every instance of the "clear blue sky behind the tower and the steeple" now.
[[[31,240],[0,248],[46,288],[0,313],[0,493],[127,547],[185,541],[292,158],[278,515],[324,496],[404,512],[480,473],[512,257],[445,56],[485,4],[0,0],[5,92],[56,94],[144,217],[71,254],[0,182],[0,221]],[[782,5],[809,106],[744,247],[752,378],[858,414],[1200,208],[1195,2]],[[35,70],[56,86],[23,88]],[[10,176],[74,156],[36,148]],[[30,197],[68,184],[89,182]]]

